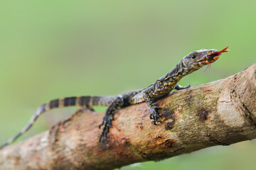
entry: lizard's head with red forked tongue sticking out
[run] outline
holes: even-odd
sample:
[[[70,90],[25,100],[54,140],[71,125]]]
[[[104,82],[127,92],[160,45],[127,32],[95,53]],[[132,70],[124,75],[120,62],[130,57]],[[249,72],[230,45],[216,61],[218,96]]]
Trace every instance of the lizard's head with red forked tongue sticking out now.
[[[225,47],[223,50],[220,51],[216,49],[201,49],[193,51],[183,57],[181,62],[183,64],[183,67],[186,67],[187,69],[200,69],[201,67],[218,60],[222,52],[228,52],[227,48],[228,47]]]

